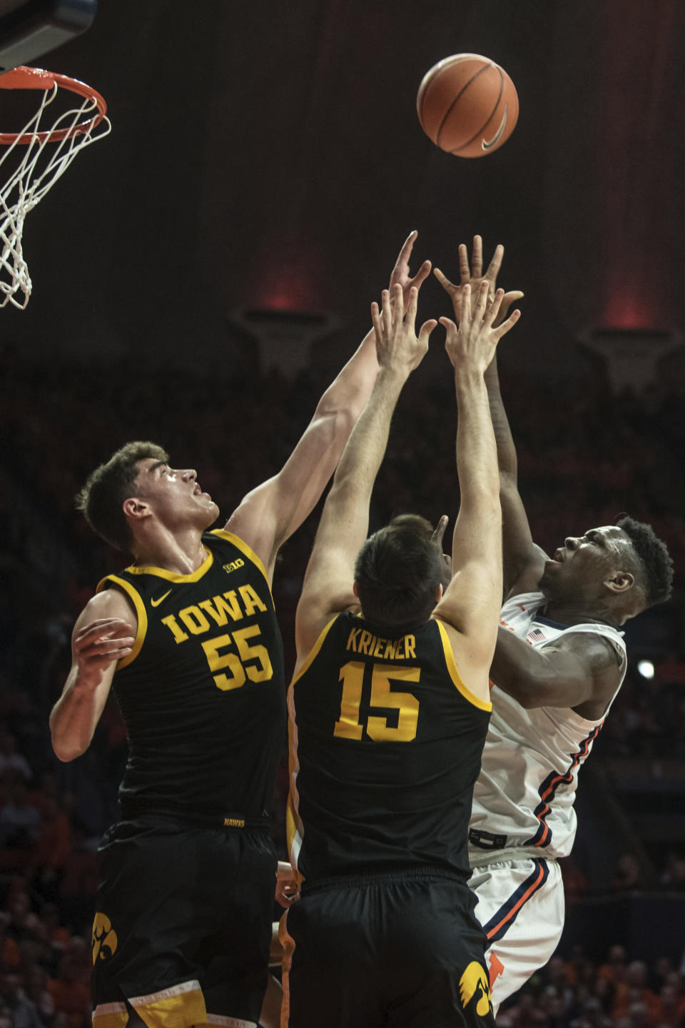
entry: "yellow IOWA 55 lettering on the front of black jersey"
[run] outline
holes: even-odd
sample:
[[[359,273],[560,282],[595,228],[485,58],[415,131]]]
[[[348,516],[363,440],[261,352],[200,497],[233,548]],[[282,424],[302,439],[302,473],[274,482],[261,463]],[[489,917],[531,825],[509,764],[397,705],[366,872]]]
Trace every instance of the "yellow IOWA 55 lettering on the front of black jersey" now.
[[[245,682],[267,682],[273,677],[269,652],[257,641],[261,638],[259,624],[232,627],[256,614],[267,614],[268,610],[253,586],[241,585],[211,599],[200,599],[197,603],[184,607],[177,614],[162,618],[161,623],[168,628],[177,645],[181,645],[189,638],[216,630],[217,626],[223,628],[230,621],[230,633],[198,640],[217,689],[227,692],[240,689]]]

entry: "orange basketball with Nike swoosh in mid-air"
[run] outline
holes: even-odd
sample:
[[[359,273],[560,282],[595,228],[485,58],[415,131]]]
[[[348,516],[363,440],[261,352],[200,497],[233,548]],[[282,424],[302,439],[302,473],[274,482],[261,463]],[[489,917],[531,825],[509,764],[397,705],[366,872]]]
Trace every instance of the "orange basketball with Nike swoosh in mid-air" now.
[[[516,86],[479,53],[455,53],[426,72],[416,98],[426,136],[457,157],[485,157],[506,142],[519,117]]]

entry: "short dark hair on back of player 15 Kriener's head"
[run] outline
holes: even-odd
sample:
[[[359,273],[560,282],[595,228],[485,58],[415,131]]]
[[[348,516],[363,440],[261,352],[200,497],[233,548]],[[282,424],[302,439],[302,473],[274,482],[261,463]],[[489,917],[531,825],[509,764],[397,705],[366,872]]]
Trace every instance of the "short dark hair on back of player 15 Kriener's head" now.
[[[430,523],[418,514],[397,515],[370,536],[356,556],[364,617],[396,634],[422,624],[435,605],[441,572]]]

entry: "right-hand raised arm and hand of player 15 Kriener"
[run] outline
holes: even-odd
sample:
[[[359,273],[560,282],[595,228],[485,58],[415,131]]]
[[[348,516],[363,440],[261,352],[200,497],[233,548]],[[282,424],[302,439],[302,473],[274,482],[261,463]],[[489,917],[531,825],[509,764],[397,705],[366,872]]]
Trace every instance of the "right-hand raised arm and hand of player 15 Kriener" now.
[[[459,411],[456,457],[461,503],[452,540],[452,580],[433,616],[456,630],[451,638],[458,666],[480,686],[482,698],[488,695],[487,670],[502,595],[499,473],[484,373],[497,342],[520,317],[515,310],[494,326],[503,295],[498,290],[489,302],[484,280],[471,300],[466,283],[459,327],[441,319],[447,329]]]

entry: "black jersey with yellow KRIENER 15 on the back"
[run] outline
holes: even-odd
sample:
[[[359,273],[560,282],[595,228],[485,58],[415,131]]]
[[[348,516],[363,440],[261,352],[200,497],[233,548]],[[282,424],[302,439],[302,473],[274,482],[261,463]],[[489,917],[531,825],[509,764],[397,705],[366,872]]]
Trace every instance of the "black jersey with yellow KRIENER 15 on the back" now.
[[[339,615],[288,704],[288,842],[303,878],[410,867],[467,878],[492,705],[462,683],[440,621],[384,638]]]

